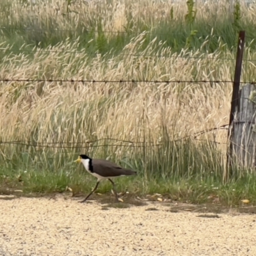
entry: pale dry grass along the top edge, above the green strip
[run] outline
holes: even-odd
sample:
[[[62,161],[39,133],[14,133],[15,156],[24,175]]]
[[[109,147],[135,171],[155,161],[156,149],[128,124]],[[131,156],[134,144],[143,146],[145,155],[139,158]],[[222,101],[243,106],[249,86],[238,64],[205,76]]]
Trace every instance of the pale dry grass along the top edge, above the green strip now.
[[[172,20],[177,22],[185,20],[188,8],[187,0],[182,1],[83,1],[77,0],[68,4],[68,1],[3,1],[1,22],[15,26],[24,22],[29,28],[52,28],[76,30],[81,27],[91,28],[92,25],[101,26],[104,31],[125,31],[132,22],[134,28],[140,24],[151,28],[163,20],[170,21],[170,13],[173,12]],[[22,4],[23,3],[23,4]],[[245,1],[241,1],[241,12],[246,14],[246,19],[254,24],[255,4],[249,8]],[[234,7],[229,1],[195,1],[196,19],[210,20],[218,17],[225,20],[229,13],[232,17]],[[9,15],[9,16],[7,16]],[[212,16],[214,15],[214,16]],[[217,21],[217,20],[216,20]],[[6,24],[7,25],[7,24]],[[171,24],[170,24],[171,25]]]

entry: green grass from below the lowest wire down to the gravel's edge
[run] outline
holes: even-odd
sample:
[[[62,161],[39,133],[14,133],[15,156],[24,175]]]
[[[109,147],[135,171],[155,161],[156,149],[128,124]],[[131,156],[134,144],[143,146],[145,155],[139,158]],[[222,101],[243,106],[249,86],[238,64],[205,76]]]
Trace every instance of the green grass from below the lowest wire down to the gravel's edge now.
[[[111,157],[111,161],[138,171],[136,177],[116,179],[118,192],[128,191],[130,195],[140,196],[159,193],[172,200],[193,204],[211,202],[209,196],[218,197],[223,205],[239,205],[243,199],[250,200],[252,204],[256,202],[255,175],[245,173],[243,177],[239,177],[241,170],[233,170],[229,182],[224,184],[223,166],[212,165],[218,163],[221,156],[217,154],[214,160],[209,156],[201,156],[202,151],[197,152],[191,141],[169,147],[165,156],[162,150],[166,151],[166,146],[148,149],[145,157],[140,156],[136,148],[134,156],[129,159],[118,161]],[[103,151],[99,152],[102,154]],[[106,148],[106,152],[109,154],[111,148]],[[173,158],[175,155],[177,157]],[[12,161],[1,159],[0,193],[12,193],[15,189],[21,189],[23,195],[45,195],[63,193],[71,188],[75,195],[86,195],[94,188],[96,179],[84,170],[82,164],[74,163],[77,156],[78,153],[51,154],[50,150],[43,154],[24,154],[24,150],[20,148],[20,153],[16,152]],[[111,184],[106,180],[100,183],[96,192],[110,191]]]

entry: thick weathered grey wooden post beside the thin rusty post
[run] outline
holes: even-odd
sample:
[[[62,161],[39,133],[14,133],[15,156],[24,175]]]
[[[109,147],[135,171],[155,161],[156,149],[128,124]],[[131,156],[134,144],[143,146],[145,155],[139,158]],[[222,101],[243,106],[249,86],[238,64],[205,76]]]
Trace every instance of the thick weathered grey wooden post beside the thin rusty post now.
[[[232,138],[232,163],[243,168],[255,167],[256,151],[256,86],[245,84],[239,92],[239,111],[237,111]]]

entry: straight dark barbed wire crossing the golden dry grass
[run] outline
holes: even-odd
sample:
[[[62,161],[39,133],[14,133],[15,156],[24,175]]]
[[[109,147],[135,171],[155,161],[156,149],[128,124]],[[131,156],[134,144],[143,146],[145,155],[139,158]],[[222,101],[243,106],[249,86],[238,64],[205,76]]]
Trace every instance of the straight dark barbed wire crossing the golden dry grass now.
[[[29,83],[234,83],[228,80],[134,80],[134,79],[118,79],[118,80],[93,80],[93,79],[15,79],[15,78],[0,78],[0,82],[29,82]],[[241,84],[256,84],[255,81],[240,82]]]

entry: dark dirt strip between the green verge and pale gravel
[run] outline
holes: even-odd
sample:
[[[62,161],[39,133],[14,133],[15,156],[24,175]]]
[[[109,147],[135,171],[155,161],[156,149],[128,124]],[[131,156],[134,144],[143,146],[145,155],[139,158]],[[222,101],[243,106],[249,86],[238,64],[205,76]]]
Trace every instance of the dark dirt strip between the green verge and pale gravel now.
[[[20,197],[46,197],[49,200],[56,200],[57,198],[63,198],[67,200],[83,200],[84,195],[72,196],[72,193],[51,193],[51,194],[40,194],[40,193],[29,193],[24,194],[21,190],[4,190],[0,191],[0,200],[15,200]],[[75,199],[76,198],[76,199]],[[206,204],[186,204],[183,202],[173,201],[170,198],[157,198],[156,196],[150,196],[150,199],[146,197],[139,197],[131,194],[119,194],[124,202],[115,202],[115,196],[109,194],[95,194],[90,197],[90,199],[85,204],[92,204],[93,202],[98,202],[102,204],[102,210],[109,210],[111,208],[124,209],[129,207],[141,207],[147,206],[145,211],[167,211],[167,212],[197,212],[198,217],[201,218],[219,218],[218,214],[229,213],[229,214],[256,214],[256,206],[250,204],[239,204],[233,205],[232,207],[218,203],[206,203]],[[157,205],[164,206],[158,209]]]

